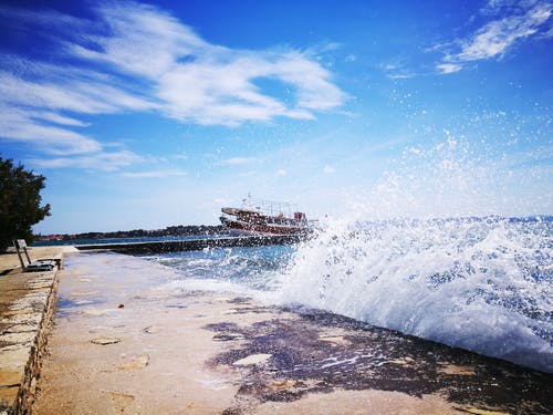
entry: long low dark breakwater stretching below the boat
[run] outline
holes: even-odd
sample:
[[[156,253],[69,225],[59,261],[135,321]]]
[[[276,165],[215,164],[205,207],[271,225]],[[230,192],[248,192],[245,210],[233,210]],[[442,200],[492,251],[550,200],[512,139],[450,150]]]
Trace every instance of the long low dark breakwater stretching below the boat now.
[[[304,239],[298,235],[261,235],[188,240],[164,240],[145,242],[114,242],[76,245],[79,250],[113,251],[118,253],[164,253],[192,251],[211,248],[260,247],[267,245],[296,243]]]

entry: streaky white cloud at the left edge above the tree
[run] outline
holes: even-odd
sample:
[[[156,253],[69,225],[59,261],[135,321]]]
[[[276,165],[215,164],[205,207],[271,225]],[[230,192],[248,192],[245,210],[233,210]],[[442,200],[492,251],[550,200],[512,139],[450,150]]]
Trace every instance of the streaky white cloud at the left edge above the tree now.
[[[71,156],[102,151],[97,139],[74,131],[90,125],[79,115],[153,107],[105,82],[91,80],[86,71],[82,80],[76,80],[71,69],[62,76],[59,69],[24,60],[8,59],[4,64],[24,65],[25,76],[0,70],[0,138],[33,144],[43,154]]]

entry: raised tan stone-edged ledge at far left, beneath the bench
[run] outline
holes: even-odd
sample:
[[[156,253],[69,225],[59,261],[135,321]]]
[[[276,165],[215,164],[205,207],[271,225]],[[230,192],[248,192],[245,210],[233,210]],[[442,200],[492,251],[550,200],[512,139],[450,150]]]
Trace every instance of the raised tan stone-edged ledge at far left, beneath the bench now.
[[[31,248],[32,260],[72,247]],[[58,270],[22,272],[17,253],[0,255],[0,414],[24,414],[34,401]]]

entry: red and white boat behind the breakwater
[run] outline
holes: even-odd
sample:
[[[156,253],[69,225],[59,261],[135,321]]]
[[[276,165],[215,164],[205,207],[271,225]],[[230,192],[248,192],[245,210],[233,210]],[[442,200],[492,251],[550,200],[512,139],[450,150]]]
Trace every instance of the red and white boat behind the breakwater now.
[[[223,207],[221,211],[221,224],[232,230],[265,235],[305,235],[313,230],[314,220],[307,220],[293,204],[248,198],[242,207]]]

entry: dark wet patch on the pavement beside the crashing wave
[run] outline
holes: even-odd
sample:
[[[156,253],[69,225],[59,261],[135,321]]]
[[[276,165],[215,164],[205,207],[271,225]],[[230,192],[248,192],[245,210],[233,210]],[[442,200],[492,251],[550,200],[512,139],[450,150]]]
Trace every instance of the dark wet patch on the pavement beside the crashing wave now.
[[[206,329],[217,333],[213,340],[240,341],[210,360],[210,366],[270,356],[242,380],[237,396],[248,400],[292,402],[313,393],[373,390],[439,395],[461,412],[551,414],[553,408],[550,374],[335,314],[304,311],[248,328],[222,323]]]

